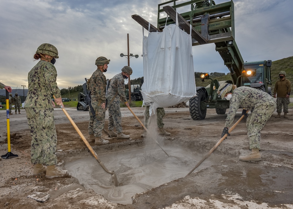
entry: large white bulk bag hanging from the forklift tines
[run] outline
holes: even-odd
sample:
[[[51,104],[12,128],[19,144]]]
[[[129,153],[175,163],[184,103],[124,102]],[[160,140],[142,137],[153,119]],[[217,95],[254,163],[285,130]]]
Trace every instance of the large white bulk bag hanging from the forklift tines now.
[[[169,107],[196,95],[191,36],[178,25],[143,37],[144,103]]]

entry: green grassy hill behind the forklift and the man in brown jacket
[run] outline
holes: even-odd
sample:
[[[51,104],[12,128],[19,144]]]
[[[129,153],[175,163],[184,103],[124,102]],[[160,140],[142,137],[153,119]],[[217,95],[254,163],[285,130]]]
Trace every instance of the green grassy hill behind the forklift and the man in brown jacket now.
[[[291,81],[291,88],[293,85],[293,56],[287,57],[287,58],[283,58],[283,59],[279,59],[276,61],[272,61],[272,67],[271,67],[271,79],[272,79],[272,92],[274,91],[275,88],[275,83],[277,80],[279,80],[279,73],[280,71],[285,71],[287,76],[286,78],[288,80]],[[213,77],[210,76],[213,79],[217,79],[219,81],[221,80],[231,80],[231,76],[230,74],[227,74],[225,76],[221,76],[221,77]],[[205,82],[208,82],[208,80],[205,80]],[[209,85],[209,83],[202,83],[200,78],[195,78],[195,83],[196,86],[207,86]]]

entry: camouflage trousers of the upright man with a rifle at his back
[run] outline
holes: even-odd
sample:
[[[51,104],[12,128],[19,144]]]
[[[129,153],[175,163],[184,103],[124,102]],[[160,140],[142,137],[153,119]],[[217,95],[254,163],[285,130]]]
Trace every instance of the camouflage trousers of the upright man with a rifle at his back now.
[[[102,136],[105,125],[105,109],[102,108],[102,103],[98,101],[91,101],[91,105],[93,106],[95,115],[89,109],[90,120],[88,122],[88,134],[100,137]]]

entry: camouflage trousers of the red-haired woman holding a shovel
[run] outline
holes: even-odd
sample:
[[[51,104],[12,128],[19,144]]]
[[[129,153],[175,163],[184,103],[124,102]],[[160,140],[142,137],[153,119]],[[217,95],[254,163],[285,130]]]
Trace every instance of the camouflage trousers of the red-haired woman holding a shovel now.
[[[56,165],[57,134],[53,108],[25,108],[31,142],[32,164]]]

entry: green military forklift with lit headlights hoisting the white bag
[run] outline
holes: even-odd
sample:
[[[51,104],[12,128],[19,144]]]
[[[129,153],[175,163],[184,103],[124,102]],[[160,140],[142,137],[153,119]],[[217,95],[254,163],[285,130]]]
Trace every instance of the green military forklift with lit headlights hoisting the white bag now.
[[[217,114],[226,113],[230,105],[229,100],[222,100],[217,95],[219,85],[224,82],[232,83],[237,87],[257,88],[271,94],[271,88],[268,85],[272,84],[270,73],[272,61],[243,61],[235,41],[232,0],[222,4],[216,4],[213,0],[180,2],[173,0],[161,3],[158,5],[157,27],[139,15],[132,15],[132,18],[149,32],[161,32],[166,25],[176,22],[176,16],[179,27],[191,35],[193,46],[215,44],[216,51],[219,52],[231,75],[231,80],[227,81],[214,80],[208,73],[200,76],[203,82],[209,81],[210,84],[207,87],[197,86],[196,96],[189,100],[192,119],[205,119],[207,108],[215,108]]]

